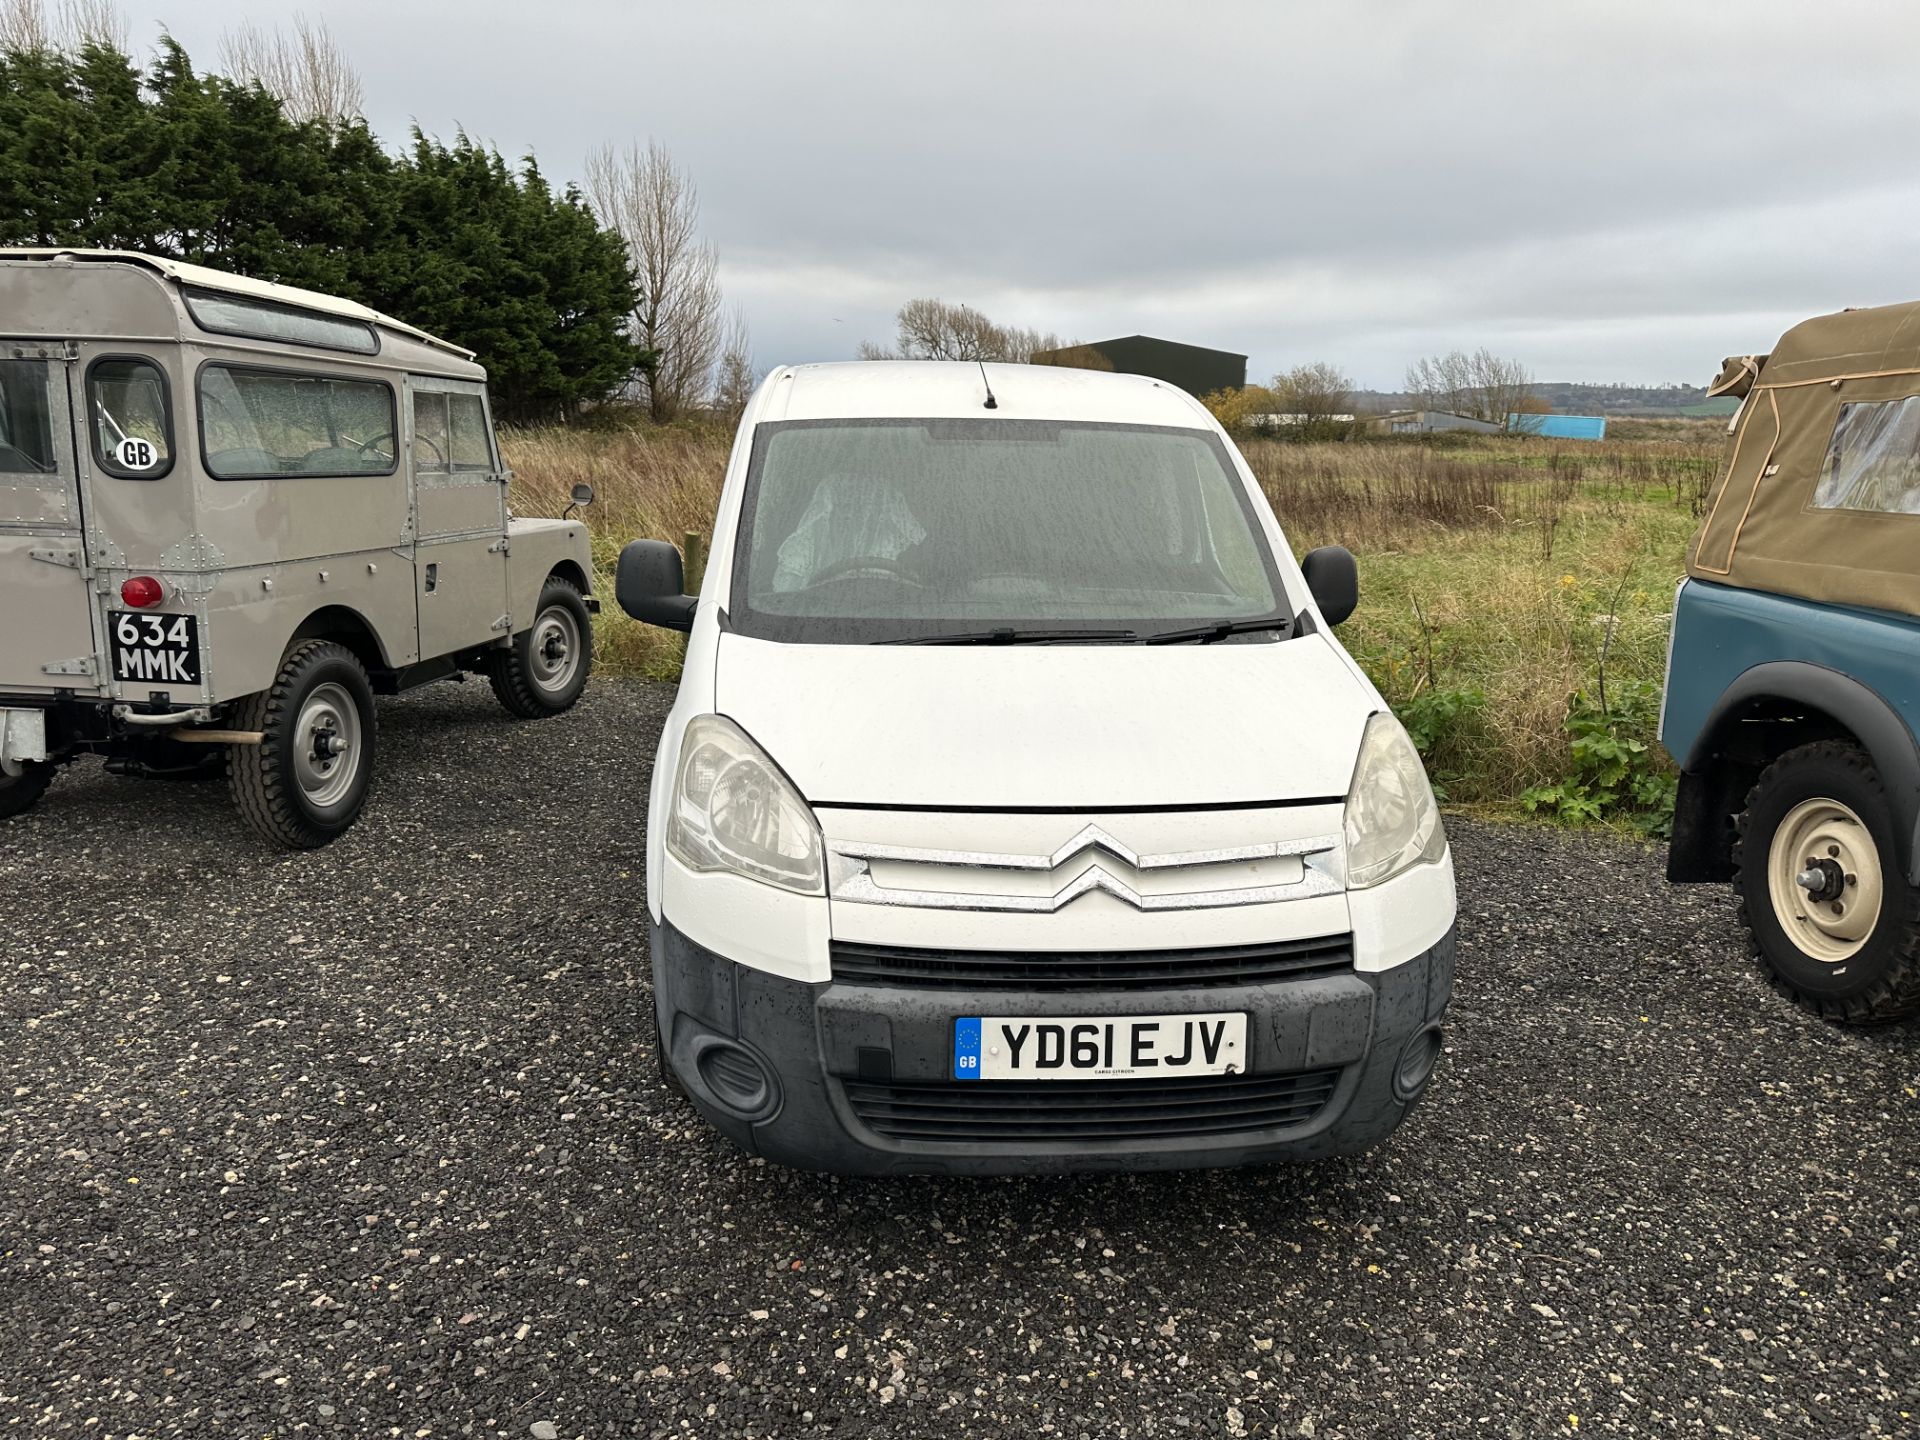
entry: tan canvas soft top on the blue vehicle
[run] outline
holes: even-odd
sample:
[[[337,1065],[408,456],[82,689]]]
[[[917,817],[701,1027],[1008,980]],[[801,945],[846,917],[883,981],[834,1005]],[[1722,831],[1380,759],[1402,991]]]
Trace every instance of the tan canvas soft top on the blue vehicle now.
[[[1688,574],[1920,614],[1920,401],[1895,409],[1920,396],[1920,303],[1803,321],[1772,353],[1730,357],[1713,390],[1745,399]],[[1882,509],[1836,499],[1868,417],[1882,465],[1912,461],[1910,499]]]

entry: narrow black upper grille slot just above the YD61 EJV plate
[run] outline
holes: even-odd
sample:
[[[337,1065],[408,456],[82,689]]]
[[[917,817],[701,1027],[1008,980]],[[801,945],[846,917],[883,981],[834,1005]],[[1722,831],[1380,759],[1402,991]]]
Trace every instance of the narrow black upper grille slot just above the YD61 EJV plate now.
[[[1354,937],[1225,945],[1206,950],[922,950],[833,941],[841,985],[935,991],[1146,991],[1271,985],[1354,970]]]

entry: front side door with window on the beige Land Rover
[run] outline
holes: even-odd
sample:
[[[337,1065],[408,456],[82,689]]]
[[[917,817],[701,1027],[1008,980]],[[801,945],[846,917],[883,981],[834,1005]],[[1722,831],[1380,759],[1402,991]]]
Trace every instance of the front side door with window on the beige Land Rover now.
[[[413,589],[420,659],[507,634],[507,474],[486,386],[407,376]]]

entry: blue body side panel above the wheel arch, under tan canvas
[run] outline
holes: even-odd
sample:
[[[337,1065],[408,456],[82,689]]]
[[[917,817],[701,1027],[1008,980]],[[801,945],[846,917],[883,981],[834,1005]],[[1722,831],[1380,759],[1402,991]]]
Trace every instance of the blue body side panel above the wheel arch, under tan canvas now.
[[[1686,764],[1720,695],[1774,660],[1837,670],[1878,693],[1920,739],[1920,620],[1688,580],[1674,601],[1661,743]]]

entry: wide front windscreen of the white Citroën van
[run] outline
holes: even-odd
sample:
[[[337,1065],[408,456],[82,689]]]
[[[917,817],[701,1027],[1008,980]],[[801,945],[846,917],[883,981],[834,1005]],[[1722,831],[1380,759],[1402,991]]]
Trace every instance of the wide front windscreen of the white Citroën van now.
[[[762,424],[732,589],[733,630],[801,643],[1286,618],[1219,438],[1140,424]]]

